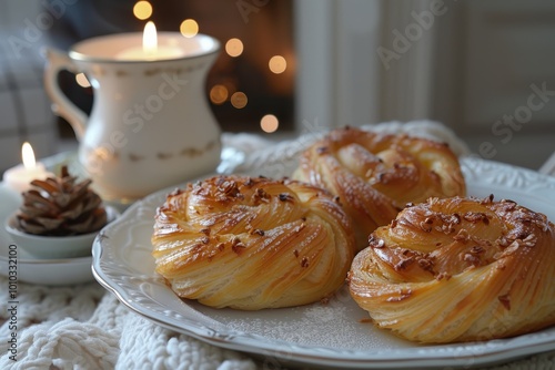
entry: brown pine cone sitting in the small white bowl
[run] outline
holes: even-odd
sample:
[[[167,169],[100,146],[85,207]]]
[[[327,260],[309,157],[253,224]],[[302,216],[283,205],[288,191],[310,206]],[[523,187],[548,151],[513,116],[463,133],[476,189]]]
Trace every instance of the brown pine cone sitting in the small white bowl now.
[[[34,179],[23,193],[17,227],[44,236],[70,236],[99,230],[107,224],[100,196],[89,188],[91,179],[77,183],[63,166],[60,177]]]

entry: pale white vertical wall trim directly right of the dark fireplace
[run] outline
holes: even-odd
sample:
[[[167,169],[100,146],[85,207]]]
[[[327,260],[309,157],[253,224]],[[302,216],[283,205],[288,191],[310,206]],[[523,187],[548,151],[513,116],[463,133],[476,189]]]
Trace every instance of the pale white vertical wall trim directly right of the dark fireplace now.
[[[379,1],[294,2],[297,132],[379,120]]]

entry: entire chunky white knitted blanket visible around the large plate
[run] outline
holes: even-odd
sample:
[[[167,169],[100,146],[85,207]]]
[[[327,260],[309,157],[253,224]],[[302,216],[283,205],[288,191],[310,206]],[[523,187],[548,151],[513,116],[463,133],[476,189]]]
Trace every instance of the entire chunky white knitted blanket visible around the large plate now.
[[[466,147],[448,130],[428,122],[381,125]],[[249,151],[241,169],[256,168],[281,155],[294,155],[319,133],[275,144],[253,135],[225,135],[226,146]],[[278,162],[276,162],[278,163]],[[246,354],[221,349],[164,329],[129,310],[97,282],[73,287],[18,285],[17,322],[11,321],[8,280],[0,277],[0,369],[264,369]],[[17,325],[17,328],[11,326]],[[10,345],[17,335],[17,349]],[[13,349],[13,350],[12,350]],[[271,362],[270,369],[278,369]],[[491,369],[555,369],[555,351]]]

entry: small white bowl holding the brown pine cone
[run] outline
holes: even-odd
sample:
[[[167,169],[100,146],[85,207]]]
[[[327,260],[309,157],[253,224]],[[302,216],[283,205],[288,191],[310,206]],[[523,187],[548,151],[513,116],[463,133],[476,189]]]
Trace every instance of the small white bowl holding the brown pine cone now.
[[[108,223],[114,220],[119,213],[105,207]],[[91,255],[92,241],[100,230],[74,236],[41,236],[20,232],[14,226],[14,216],[6,222],[6,232],[16,245],[29,255],[41,259],[75,258]]]

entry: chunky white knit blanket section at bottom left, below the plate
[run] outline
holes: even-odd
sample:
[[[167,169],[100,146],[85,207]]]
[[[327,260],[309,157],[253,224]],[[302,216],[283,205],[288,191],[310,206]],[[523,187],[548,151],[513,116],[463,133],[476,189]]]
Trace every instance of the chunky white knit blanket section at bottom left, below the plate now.
[[[4,277],[0,286],[7,287]],[[7,333],[10,299],[0,295],[0,369],[238,369],[245,356],[164,329],[121,305],[98,284],[77,287],[18,285],[17,361]]]

